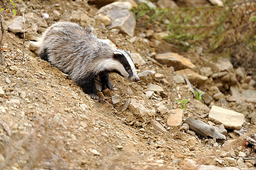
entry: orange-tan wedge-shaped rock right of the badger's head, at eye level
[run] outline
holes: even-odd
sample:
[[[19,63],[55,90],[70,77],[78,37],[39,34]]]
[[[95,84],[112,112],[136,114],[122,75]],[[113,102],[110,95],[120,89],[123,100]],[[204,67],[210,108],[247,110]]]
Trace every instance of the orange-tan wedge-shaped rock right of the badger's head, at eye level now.
[[[167,65],[168,67],[173,66],[175,70],[182,69],[195,69],[195,65],[190,62],[187,58],[180,56],[177,53],[162,53],[156,55],[156,61]]]

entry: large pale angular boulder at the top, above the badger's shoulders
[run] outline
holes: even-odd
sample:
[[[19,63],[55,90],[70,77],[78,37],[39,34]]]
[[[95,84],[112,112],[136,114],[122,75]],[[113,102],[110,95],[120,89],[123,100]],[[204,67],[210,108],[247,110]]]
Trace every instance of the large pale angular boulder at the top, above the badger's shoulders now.
[[[129,11],[132,8],[129,2],[113,2],[100,8],[97,14],[104,14],[111,19],[108,29],[117,28],[133,37],[136,27],[135,14]]]

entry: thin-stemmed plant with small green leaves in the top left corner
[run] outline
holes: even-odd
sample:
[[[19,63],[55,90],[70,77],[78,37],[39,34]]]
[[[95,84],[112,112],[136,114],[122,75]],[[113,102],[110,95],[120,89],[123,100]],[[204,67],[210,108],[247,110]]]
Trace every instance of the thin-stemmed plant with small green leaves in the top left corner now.
[[[22,2],[22,0],[18,0],[20,2]],[[7,8],[1,8],[0,11],[2,14],[0,14],[0,24],[1,24],[1,30],[2,30],[2,33],[1,33],[1,39],[0,39],[0,55],[1,55],[1,64],[4,65],[3,63],[3,53],[2,53],[2,48],[1,48],[1,44],[2,44],[2,41],[3,41],[3,33],[4,33],[4,29],[3,29],[3,16],[8,13],[9,11],[12,11],[13,15],[15,16],[16,15],[16,10],[15,10],[15,7],[16,7],[16,2],[18,1],[14,1],[14,0],[10,0],[10,4]]]

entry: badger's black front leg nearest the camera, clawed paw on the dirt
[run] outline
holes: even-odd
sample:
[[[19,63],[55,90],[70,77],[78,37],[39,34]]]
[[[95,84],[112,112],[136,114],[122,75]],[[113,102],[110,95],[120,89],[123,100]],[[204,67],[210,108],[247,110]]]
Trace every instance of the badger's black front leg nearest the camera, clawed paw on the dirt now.
[[[82,87],[83,92],[91,96],[92,99],[102,101],[103,99],[97,95],[97,89],[93,76],[86,76],[85,78],[78,80],[77,84]]]

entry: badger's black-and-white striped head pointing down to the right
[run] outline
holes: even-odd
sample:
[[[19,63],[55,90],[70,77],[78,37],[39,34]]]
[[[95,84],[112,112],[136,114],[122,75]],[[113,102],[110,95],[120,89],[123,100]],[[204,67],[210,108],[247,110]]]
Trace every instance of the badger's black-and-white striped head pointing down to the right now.
[[[115,65],[115,69],[113,70],[114,72],[133,82],[138,82],[140,80],[136,73],[135,65],[132,61],[130,52],[116,50],[116,52],[113,54],[113,58],[118,62],[118,64]]]

